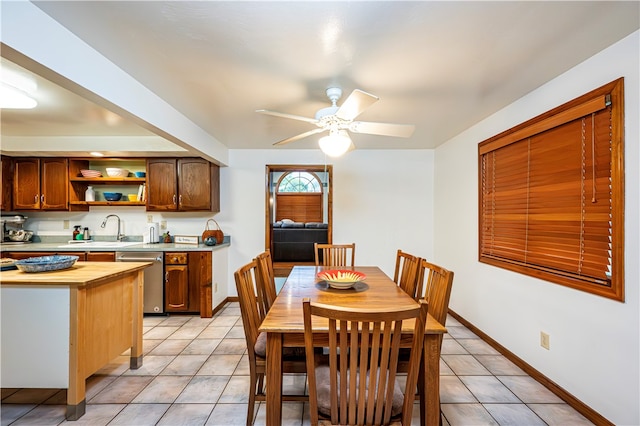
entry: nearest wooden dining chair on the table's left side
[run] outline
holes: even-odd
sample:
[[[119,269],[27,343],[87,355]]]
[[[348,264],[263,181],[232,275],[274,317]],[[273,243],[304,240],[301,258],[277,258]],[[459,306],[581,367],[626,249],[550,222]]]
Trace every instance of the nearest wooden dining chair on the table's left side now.
[[[253,413],[256,401],[265,401],[264,377],[266,374],[266,350],[267,336],[260,333],[258,328],[264,319],[258,308],[258,298],[255,291],[255,282],[258,272],[258,261],[253,259],[248,264],[239,268],[235,273],[238,302],[242,314],[242,325],[247,340],[247,352],[249,355],[249,404],[247,407],[247,425],[253,424]],[[285,348],[282,354],[283,373],[305,373],[306,360],[304,351],[296,351],[298,348]],[[307,401],[306,395],[283,395],[284,401]]]

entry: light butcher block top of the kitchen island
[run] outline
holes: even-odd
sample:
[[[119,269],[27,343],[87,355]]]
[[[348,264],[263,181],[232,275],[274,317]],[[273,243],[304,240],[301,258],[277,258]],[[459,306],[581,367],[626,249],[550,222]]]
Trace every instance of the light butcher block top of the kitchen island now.
[[[99,284],[122,275],[124,272],[142,270],[148,262],[76,262],[72,267],[47,272],[22,272],[17,269],[2,271],[2,285],[68,285],[86,286]]]

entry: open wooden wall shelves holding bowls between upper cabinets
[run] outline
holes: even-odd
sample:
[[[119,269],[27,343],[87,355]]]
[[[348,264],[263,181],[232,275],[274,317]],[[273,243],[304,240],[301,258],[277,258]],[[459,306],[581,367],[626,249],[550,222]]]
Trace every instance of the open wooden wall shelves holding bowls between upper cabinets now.
[[[69,210],[88,211],[89,206],[144,206],[144,201],[129,201],[127,194],[138,194],[140,185],[146,184],[146,178],[138,178],[130,173],[128,177],[109,177],[106,173],[107,167],[117,167],[129,170],[129,172],[145,171],[145,161],[107,158],[101,160],[70,159],[69,160]],[[98,170],[101,177],[85,178],[81,170]],[[92,186],[96,191],[95,201],[86,201],[85,192],[87,187]],[[122,198],[119,201],[106,201],[101,193],[121,192]]]

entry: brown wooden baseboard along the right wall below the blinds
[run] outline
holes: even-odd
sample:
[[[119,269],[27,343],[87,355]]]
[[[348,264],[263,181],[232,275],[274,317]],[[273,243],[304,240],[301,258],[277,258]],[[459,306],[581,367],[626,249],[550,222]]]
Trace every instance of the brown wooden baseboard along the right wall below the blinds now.
[[[531,378],[533,378],[542,386],[546,387],[551,392],[553,392],[558,398],[562,399],[564,402],[567,403],[567,405],[569,405],[570,407],[575,409],[577,412],[582,414],[589,421],[597,425],[608,425],[608,426],[614,425],[614,423],[607,420],[605,417],[603,417],[600,413],[595,411],[593,408],[589,407],[584,402],[580,401],[578,398],[576,398],[575,396],[567,392],[564,388],[562,388],[560,385],[555,383],[553,380],[549,379],[547,376],[545,376],[544,374],[542,374],[541,372],[533,368],[531,365],[527,364],[524,360],[519,358],[517,355],[515,355],[509,349],[502,346],[497,341],[493,340],[488,334],[486,334],[485,332],[477,328],[475,325],[471,324],[462,316],[452,311],[451,309],[449,309],[449,315],[451,315],[458,322],[460,322],[460,324],[467,327],[474,334],[476,334],[478,337],[480,337],[482,340],[488,343],[489,346],[491,346],[492,348],[500,352],[505,358],[513,362],[516,366],[522,369],[522,371],[524,371],[529,376],[531,376]]]

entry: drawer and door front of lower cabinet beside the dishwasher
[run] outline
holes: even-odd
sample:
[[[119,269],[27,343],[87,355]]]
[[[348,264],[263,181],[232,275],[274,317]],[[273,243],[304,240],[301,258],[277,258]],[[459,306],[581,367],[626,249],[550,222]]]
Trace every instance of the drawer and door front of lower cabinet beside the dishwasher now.
[[[165,312],[187,312],[189,310],[187,253],[165,253],[164,256]]]

